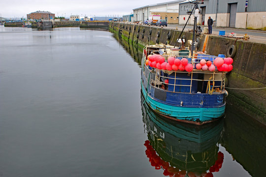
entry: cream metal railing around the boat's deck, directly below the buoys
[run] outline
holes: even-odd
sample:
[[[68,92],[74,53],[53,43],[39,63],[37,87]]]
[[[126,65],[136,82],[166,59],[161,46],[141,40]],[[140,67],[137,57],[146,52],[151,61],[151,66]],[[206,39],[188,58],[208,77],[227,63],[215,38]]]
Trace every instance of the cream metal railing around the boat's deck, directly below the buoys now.
[[[146,69],[149,69],[146,66]],[[149,69],[150,70],[150,69]],[[225,73],[224,72],[208,72],[208,71],[167,71],[157,68],[151,69],[155,77],[150,79],[150,86],[158,89],[166,89],[172,92],[189,92],[189,93],[221,93],[225,90]],[[180,76],[181,74],[181,76]],[[199,74],[203,79],[199,79]],[[196,76],[196,77],[195,77]],[[146,75],[146,78],[147,75]],[[198,84],[201,87],[206,84],[206,89],[198,91]]]

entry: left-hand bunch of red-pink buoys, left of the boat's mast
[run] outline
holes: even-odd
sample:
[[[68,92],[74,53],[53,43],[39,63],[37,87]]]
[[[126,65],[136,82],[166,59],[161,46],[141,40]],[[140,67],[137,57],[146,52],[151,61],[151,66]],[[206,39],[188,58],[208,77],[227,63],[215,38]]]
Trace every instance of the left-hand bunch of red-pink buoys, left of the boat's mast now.
[[[175,59],[174,57],[169,57],[167,59],[168,62],[165,61],[165,58],[161,55],[149,55],[146,60],[146,65],[149,65],[154,68],[164,69],[168,71],[188,71],[191,72],[193,70],[193,65],[188,63],[188,59]]]

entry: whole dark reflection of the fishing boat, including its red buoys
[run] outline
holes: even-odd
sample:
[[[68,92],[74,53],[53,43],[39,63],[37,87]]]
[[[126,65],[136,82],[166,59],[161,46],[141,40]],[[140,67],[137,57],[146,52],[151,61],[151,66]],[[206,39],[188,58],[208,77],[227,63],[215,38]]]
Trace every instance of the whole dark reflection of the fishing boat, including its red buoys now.
[[[170,177],[213,177],[219,172],[224,160],[218,152],[223,119],[202,126],[171,121],[143,104],[143,96],[141,100],[151,166]]]

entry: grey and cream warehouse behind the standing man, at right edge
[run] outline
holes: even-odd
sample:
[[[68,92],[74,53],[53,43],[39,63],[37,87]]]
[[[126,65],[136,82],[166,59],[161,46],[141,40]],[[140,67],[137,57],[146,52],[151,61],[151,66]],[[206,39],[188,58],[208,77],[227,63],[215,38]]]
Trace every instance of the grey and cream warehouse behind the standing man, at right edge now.
[[[193,7],[188,0],[179,4],[179,24],[186,23]],[[204,0],[204,4],[199,4],[198,24],[207,26],[208,17],[216,27],[266,29],[266,3],[265,0]],[[194,24],[193,16],[188,24]]]

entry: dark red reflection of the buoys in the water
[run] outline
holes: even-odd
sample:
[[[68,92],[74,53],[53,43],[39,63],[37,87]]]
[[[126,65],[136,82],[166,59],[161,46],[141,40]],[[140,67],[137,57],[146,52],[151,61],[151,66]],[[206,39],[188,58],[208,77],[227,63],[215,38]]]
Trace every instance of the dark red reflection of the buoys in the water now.
[[[164,161],[159,155],[157,155],[155,149],[150,145],[150,141],[146,140],[144,146],[147,148],[145,153],[149,158],[151,166],[155,167],[156,170],[163,169],[163,175],[169,177],[213,177],[213,172],[219,172],[222,168],[222,163],[224,161],[224,154],[218,152],[217,160],[213,166],[210,167],[209,172],[187,172],[186,170],[179,170],[176,167],[170,166],[169,162]]]

